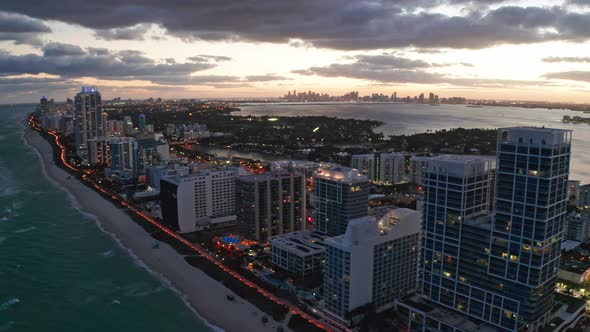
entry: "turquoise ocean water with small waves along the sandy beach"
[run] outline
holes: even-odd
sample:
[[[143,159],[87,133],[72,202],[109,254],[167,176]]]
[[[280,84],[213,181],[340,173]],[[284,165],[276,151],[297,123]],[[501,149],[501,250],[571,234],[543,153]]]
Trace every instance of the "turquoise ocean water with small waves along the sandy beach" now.
[[[212,331],[47,180],[32,108],[0,106],[0,332]]]

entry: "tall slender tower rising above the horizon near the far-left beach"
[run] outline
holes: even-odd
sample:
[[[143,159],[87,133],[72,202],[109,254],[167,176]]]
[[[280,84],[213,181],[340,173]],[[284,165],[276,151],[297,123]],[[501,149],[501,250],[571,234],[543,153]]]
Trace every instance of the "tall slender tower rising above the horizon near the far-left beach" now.
[[[76,149],[86,158],[88,140],[99,138],[103,133],[101,97],[96,88],[82,87],[74,98],[74,116]]]

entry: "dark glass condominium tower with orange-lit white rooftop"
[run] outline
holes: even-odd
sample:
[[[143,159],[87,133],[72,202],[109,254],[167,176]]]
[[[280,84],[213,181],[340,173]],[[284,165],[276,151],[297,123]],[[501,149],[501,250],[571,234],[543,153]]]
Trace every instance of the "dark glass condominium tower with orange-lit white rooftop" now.
[[[328,236],[344,234],[348,222],[368,213],[369,179],[359,171],[324,166],[314,176],[314,229]]]

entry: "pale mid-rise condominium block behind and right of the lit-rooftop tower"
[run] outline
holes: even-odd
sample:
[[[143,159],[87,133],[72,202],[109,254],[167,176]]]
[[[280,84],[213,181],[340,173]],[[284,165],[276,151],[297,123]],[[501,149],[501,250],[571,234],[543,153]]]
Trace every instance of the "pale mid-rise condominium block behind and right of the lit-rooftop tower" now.
[[[351,167],[373,182],[398,183],[405,175],[405,160],[401,153],[359,154],[352,156]]]

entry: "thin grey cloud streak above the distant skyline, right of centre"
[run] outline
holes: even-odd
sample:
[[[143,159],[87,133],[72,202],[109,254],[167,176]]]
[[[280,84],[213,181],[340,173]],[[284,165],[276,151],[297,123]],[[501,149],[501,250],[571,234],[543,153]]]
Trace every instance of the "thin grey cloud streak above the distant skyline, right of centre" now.
[[[379,56],[356,56],[355,58],[357,60],[352,63],[333,63],[324,67],[311,67],[293,72],[300,75],[346,77],[385,84],[452,84],[477,87],[513,87],[550,84],[550,82],[545,81],[457,78],[447,74],[427,71],[428,68],[434,67],[469,65],[463,63],[429,64],[423,62],[421,65],[417,65],[409,59],[405,59],[407,61],[400,59],[382,61]]]

